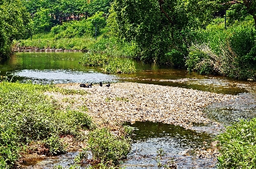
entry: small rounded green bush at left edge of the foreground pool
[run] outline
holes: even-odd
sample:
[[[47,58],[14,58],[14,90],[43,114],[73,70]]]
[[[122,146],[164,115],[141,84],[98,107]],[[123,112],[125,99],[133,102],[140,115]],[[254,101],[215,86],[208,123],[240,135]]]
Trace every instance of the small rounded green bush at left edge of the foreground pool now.
[[[131,145],[128,138],[112,135],[107,128],[102,128],[89,133],[88,148],[94,160],[117,164],[126,158]]]

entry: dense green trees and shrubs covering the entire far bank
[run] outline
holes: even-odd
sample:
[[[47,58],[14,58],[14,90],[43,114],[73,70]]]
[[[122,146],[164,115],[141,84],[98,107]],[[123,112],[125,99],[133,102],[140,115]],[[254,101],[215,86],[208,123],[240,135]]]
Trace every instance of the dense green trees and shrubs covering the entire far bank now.
[[[1,0],[0,8],[2,59],[17,45],[78,49],[256,79],[253,0]]]

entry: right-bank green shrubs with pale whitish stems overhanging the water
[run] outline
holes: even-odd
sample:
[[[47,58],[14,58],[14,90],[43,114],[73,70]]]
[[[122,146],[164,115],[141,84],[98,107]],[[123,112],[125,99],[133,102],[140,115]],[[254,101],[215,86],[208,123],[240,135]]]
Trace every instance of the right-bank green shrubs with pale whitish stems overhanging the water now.
[[[238,79],[256,79],[256,31],[252,24],[240,23],[224,29],[216,19],[196,34],[186,60],[189,71],[219,74]],[[218,24],[219,23],[219,24]]]

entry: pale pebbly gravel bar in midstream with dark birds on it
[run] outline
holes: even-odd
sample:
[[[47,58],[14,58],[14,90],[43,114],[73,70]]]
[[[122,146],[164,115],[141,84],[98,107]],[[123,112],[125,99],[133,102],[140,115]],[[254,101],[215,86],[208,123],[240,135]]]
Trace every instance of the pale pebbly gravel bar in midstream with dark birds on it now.
[[[66,89],[86,90],[87,95],[45,94],[70,109],[87,110],[96,123],[136,121],[163,122],[191,128],[195,123],[214,124],[204,114],[205,106],[225,102],[239,96],[202,92],[171,86],[139,83],[94,84],[81,88],[79,84],[58,84]]]

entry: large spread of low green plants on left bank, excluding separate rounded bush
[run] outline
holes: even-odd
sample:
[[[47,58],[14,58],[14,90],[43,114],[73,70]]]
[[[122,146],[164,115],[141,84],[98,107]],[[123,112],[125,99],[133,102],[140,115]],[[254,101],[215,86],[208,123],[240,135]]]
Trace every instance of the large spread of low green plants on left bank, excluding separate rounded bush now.
[[[65,145],[58,136],[80,136],[81,128],[92,127],[87,114],[60,110],[56,101],[43,94],[45,91],[62,90],[51,85],[0,83],[0,165],[7,165],[5,168],[18,160],[23,144],[44,140],[49,153],[62,153]]]

